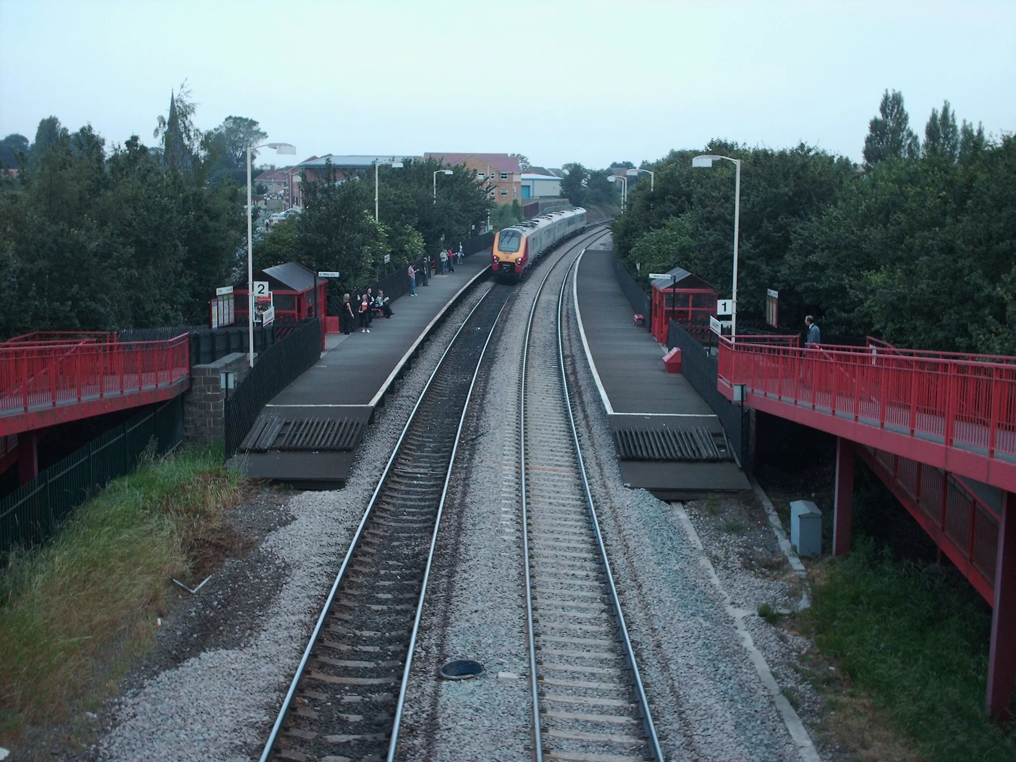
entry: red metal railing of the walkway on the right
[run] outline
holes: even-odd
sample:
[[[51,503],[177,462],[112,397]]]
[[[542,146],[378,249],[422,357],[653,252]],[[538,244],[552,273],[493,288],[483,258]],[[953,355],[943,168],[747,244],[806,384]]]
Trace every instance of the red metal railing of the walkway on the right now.
[[[782,337],[724,336],[720,390],[733,396],[734,385],[743,385],[750,394],[837,422],[958,448],[1004,462],[1007,471],[1016,465],[1016,358],[875,341],[803,348],[774,338]]]

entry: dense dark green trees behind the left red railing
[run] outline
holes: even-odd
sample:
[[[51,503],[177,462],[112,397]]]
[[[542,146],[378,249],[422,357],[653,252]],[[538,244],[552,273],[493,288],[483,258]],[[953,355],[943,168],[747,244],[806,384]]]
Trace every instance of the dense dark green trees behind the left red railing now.
[[[0,180],[0,334],[200,322],[243,240],[242,198],[206,154],[169,166],[137,136],[107,151],[43,120],[27,166]]]

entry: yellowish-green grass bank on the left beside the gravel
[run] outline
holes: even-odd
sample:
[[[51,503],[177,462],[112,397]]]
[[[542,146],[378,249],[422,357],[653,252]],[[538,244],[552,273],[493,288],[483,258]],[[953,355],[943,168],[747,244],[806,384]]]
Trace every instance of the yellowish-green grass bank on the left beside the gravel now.
[[[0,738],[94,708],[151,643],[172,577],[228,536],[239,482],[221,447],[148,462],[0,570]]]

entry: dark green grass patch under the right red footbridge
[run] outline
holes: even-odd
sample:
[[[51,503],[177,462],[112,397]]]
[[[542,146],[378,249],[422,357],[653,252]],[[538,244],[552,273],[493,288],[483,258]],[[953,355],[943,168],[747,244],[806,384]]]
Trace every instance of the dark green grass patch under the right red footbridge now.
[[[922,756],[1016,759],[1016,735],[985,709],[991,612],[955,570],[894,559],[860,537],[820,575],[811,618],[851,690]]]

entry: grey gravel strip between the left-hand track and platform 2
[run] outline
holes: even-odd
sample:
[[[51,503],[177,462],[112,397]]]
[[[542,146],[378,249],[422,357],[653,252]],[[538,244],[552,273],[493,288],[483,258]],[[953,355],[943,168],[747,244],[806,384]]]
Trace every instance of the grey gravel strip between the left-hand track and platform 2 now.
[[[185,606],[171,615],[167,630],[177,634],[165,645],[160,640],[148,660],[155,668],[148,669],[141,684],[111,703],[110,729],[98,749],[99,759],[257,758],[412,401],[442,346],[484,292],[481,287],[463,300],[378,410],[345,488],[299,493],[277,505],[280,525],[259,548],[215,573],[198,593],[205,601],[201,607]],[[210,616],[212,610],[224,622],[241,619],[246,624],[234,625],[229,633],[224,624],[204,647],[182,650],[181,643],[197,640],[199,616]],[[177,644],[176,654],[171,642]],[[174,658],[183,660],[174,663]]]

